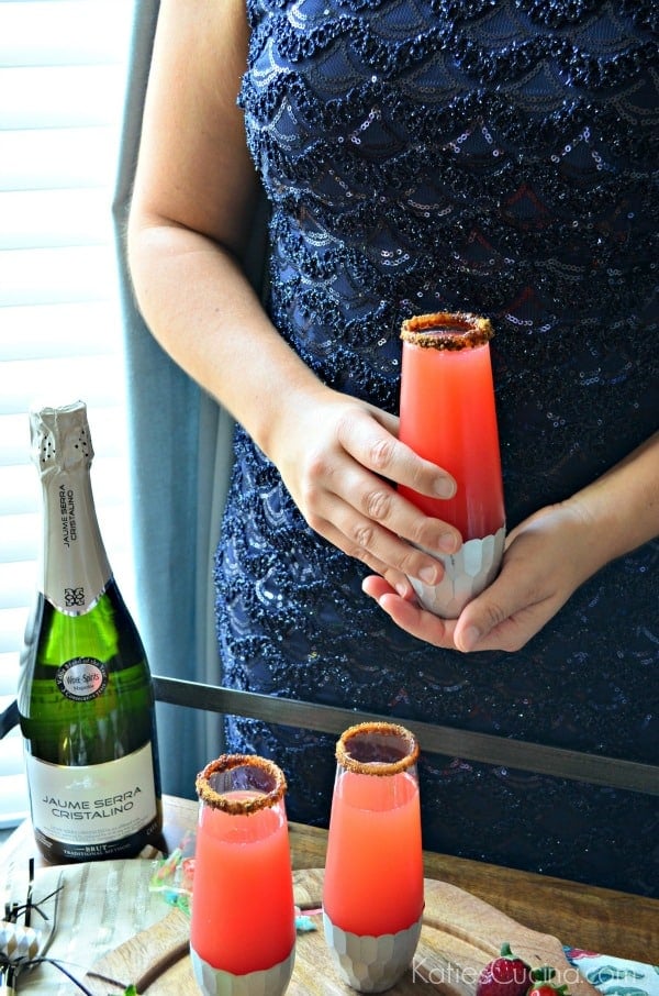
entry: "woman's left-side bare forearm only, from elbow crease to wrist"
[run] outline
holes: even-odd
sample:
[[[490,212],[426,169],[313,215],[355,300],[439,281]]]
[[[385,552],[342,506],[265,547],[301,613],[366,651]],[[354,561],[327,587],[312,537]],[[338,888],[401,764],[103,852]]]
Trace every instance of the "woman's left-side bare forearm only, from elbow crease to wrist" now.
[[[237,261],[204,235],[138,217],[129,258],[154,336],[270,455],[282,398],[294,408],[322,386],[273,329]]]

